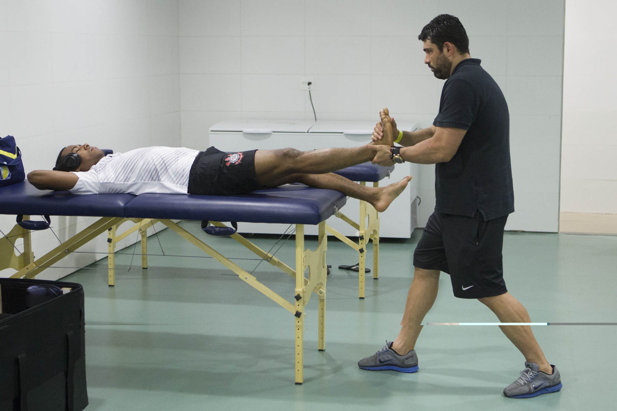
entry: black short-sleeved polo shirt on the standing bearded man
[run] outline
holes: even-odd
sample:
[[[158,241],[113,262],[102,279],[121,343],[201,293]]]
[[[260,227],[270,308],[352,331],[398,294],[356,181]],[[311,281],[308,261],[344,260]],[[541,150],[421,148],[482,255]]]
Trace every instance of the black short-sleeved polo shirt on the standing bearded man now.
[[[513,212],[508,104],[479,59],[454,68],[433,125],[467,130],[454,157],[435,165],[435,210],[469,217],[479,210],[485,220]]]

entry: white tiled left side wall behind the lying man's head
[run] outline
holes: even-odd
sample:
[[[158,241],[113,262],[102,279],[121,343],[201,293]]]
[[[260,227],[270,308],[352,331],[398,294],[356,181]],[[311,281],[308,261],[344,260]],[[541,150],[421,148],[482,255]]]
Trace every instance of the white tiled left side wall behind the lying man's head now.
[[[67,144],[180,145],[178,34],[175,0],[1,1],[0,134],[15,136],[27,171],[53,167]],[[68,238],[89,220],[54,217],[52,226]],[[2,231],[12,225],[0,215]],[[33,243],[38,257],[58,244],[49,230]],[[105,249],[104,241],[83,247]],[[95,258],[73,254],[59,265]]]

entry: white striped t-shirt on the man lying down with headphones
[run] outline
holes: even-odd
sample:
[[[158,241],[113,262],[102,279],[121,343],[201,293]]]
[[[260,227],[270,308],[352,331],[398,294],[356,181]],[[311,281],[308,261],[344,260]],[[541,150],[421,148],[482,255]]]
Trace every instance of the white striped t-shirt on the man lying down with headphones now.
[[[199,151],[184,147],[145,147],[103,157],[79,180],[74,194],[186,194],[191,165]]]

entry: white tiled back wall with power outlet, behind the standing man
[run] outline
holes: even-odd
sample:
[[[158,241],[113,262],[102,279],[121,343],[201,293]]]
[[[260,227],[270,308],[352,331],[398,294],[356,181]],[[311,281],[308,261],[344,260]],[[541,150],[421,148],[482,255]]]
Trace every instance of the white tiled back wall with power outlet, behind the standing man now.
[[[507,228],[557,231],[565,0],[179,6],[182,143],[194,148],[207,146],[207,130],[220,120],[313,118],[309,95],[300,90],[304,76],[314,80],[318,120],[377,120],[387,106],[395,118],[430,125],[443,81],[423,64],[417,36],[437,14],[457,15],[471,56],[482,59],[510,105],[516,213]],[[434,207],[434,167],[423,166],[416,178],[423,225]]]

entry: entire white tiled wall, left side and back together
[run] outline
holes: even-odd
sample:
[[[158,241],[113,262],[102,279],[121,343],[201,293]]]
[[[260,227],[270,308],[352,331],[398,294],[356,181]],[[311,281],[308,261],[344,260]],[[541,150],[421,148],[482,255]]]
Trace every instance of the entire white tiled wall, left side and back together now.
[[[204,148],[221,120],[312,118],[303,76],[313,77],[318,119],[377,120],[387,106],[394,118],[426,127],[443,83],[424,66],[417,36],[448,12],[460,17],[472,56],[510,104],[517,211],[508,228],[555,231],[564,7],[565,0],[4,0],[0,133],[17,137],[28,170],[51,167],[60,147],[76,142],[117,151]],[[416,178],[422,225],[434,204],[433,167]],[[64,231],[82,220],[55,224]],[[0,226],[12,219],[0,217]]]

